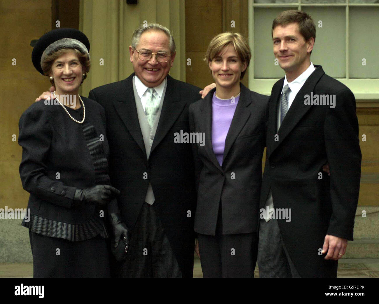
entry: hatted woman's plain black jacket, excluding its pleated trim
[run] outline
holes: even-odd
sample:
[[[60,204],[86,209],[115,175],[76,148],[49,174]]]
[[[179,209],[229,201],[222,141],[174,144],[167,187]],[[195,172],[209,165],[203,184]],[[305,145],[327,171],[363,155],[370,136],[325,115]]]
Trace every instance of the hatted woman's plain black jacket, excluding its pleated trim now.
[[[97,102],[82,99],[86,121],[95,127],[97,136],[104,135],[103,148],[108,158],[104,109]],[[87,222],[95,212],[95,205],[73,205],[77,188],[96,185],[81,124],[72,121],[61,105],[45,105],[41,100],[22,114],[19,129],[20,177],[23,188],[30,193],[30,213],[69,224]]]

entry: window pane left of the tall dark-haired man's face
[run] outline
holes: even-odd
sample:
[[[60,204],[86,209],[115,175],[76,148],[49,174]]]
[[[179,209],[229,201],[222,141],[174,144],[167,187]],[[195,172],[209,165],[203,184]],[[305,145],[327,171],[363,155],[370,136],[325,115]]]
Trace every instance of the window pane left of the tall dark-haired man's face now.
[[[271,27],[282,11],[291,8],[254,8],[254,78],[282,78],[284,72],[274,65]]]

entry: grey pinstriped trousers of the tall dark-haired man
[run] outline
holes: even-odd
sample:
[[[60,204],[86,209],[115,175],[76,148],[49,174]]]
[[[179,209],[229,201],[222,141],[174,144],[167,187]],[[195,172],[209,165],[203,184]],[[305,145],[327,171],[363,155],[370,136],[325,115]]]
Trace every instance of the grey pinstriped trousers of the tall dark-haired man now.
[[[259,277],[300,277],[284,246],[276,219],[260,220],[258,268]]]

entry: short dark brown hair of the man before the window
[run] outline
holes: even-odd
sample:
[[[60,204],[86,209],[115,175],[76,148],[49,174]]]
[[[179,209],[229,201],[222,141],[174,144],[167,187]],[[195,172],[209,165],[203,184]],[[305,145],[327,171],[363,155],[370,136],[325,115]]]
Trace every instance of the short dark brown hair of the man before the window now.
[[[280,13],[273,21],[271,28],[271,37],[273,36],[274,28],[278,25],[285,26],[290,23],[297,23],[299,25],[299,32],[304,37],[305,41],[310,38],[316,40],[316,26],[312,17],[303,11],[290,9]]]

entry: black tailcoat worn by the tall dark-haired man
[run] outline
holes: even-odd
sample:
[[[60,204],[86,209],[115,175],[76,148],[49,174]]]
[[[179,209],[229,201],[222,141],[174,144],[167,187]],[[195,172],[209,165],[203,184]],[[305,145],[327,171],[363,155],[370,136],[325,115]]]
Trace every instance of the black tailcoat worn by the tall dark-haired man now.
[[[324,260],[319,251],[326,234],[353,239],[362,156],[354,95],[321,66],[315,67],[278,132],[277,105],[284,78],[273,86],[260,208],[271,189],[275,208],[291,208],[291,222],[279,219],[278,224],[299,274],[333,277],[337,261]],[[335,108],[305,105],[304,96],[311,92],[335,95]],[[322,170],[326,163],[330,177]]]

